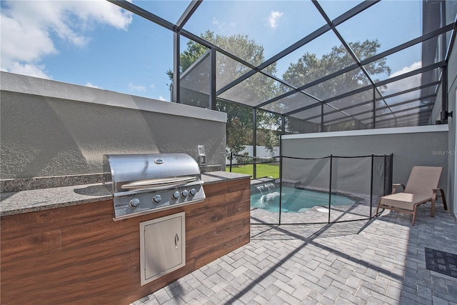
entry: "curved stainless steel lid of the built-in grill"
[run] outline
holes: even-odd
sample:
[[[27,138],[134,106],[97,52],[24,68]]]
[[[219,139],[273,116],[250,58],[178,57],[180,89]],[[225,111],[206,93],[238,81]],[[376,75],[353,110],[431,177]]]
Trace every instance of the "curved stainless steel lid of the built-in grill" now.
[[[201,179],[199,165],[188,154],[106,154],[103,166],[105,184],[114,193]]]

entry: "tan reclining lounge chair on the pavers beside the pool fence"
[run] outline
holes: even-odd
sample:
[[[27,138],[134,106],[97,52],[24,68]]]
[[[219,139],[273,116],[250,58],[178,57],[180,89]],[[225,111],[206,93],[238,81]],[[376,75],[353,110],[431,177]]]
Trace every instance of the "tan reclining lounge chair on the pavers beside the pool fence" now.
[[[392,194],[378,199],[376,215],[378,215],[380,208],[412,214],[413,221],[411,221],[411,226],[414,226],[416,210],[420,204],[431,201],[431,216],[435,216],[435,201],[440,197],[440,194],[437,194],[438,190],[441,192],[444,209],[447,210],[448,206],[446,205],[444,191],[443,189],[438,189],[441,171],[443,171],[443,167],[413,166],[406,186],[393,184]],[[403,187],[403,193],[396,193],[398,186]]]

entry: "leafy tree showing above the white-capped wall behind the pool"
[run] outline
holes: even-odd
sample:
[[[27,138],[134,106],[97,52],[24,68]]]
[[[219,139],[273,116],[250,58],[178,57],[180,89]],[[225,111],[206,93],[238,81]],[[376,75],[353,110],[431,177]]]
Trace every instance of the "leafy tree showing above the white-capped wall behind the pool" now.
[[[376,50],[381,46],[377,39],[366,40],[363,42],[350,42],[348,45],[351,47],[356,56],[362,59],[375,55]],[[303,56],[301,56],[295,64],[291,64],[288,67],[286,72],[283,74],[283,79],[290,84],[302,86],[303,84],[308,84],[311,81],[320,79],[323,76],[344,69],[352,64],[354,64],[353,58],[350,54],[348,54],[344,46],[333,46],[331,51],[328,54],[323,54],[320,59],[316,56],[316,54],[303,54]],[[391,69],[387,66],[385,58],[373,61],[364,66],[364,68],[370,75],[391,74]],[[374,79],[374,81],[376,81],[376,79]],[[340,92],[348,91],[348,88],[354,90],[369,84],[368,79],[365,74],[363,74],[361,69],[356,68],[341,74],[340,76],[336,76],[333,79],[316,84],[315,86],[306,89],[306,91],[313,96],[325,100],[329,97],[338,95]],[[383,88],[381,88],[381,90],[382,89]],[[365,94],[359,94],[353,98],[357,99],[353,101],[354,103],[356,101],[369,101],[373,98],[373,92],[366,91]],[[333,105],[338,105],[338,101],[333,102]],[[286,102],[283,103],[282,107],[285,111],[287,111],[287,99]],[[354,124],[356,124],[355,120],[343,122],[338,124],[336,127],[338,130],[354,129]],[[293,125],[296,124],[289,124],[288,128],[293,129]]]

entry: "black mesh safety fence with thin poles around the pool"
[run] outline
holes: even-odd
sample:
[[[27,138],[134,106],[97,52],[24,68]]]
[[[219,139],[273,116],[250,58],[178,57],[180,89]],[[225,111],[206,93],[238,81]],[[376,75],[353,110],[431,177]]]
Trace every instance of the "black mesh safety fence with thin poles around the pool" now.
[[[251,224],[328,224],[371,219],[390,194],[392,154],[281,156],[279,179],[251,186]]]

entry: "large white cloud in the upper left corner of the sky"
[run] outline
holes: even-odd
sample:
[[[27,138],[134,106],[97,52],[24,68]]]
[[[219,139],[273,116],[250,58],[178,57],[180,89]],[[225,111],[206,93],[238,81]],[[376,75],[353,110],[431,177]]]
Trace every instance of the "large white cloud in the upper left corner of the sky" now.
[[[0,69],[51,78],[41,60],[59,53],[52,35],[82,48],[96,24],[126,30],[131,21],[131,13],[103,0],[2,1]]]

